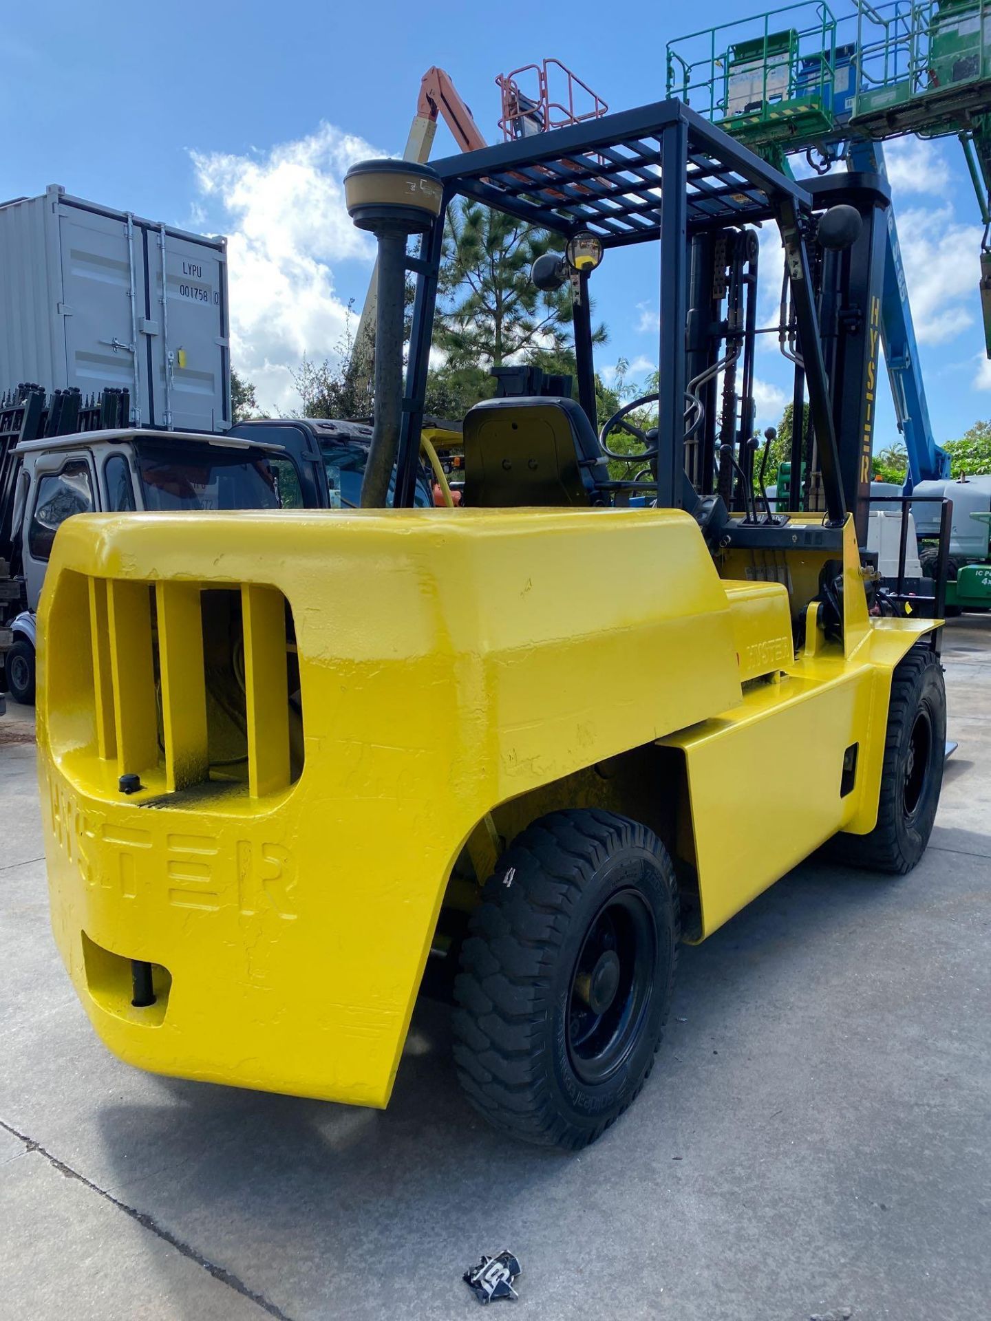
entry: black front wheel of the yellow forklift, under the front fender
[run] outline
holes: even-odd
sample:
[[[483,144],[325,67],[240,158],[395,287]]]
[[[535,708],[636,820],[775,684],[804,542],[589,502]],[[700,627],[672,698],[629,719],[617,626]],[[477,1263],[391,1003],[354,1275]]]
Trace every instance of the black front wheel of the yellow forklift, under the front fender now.
[[[926,851],[939,804],[946,748],[946,687],[939,658],[914,646],[892,675],[877,824],[840,835],[852,867],[904,876]]]

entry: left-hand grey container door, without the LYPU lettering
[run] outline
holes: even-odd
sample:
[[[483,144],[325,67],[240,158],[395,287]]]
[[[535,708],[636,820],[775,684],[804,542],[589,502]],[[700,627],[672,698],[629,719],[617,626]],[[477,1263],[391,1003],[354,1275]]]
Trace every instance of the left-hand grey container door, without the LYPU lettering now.
[[[124,221],[75,206],[63,205],[58,223],[66,384],[78,387],[83,395],[107,386],[129,390],[132,421],[137,420],[137,407],[140,421],[147,423],[132,314],[132,291],[137,293],[132,280],[139,287],[144,283],[140,243],[133,244],[132,262]],[[141,305],[143,295],[141,288]]]

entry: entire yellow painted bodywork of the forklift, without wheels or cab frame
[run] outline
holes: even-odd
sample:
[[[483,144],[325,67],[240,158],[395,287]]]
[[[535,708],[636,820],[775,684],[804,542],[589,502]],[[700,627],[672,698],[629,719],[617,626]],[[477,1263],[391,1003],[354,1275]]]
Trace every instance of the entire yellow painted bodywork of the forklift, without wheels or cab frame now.
[[[194,783],[190,601],[218,588],[242,602],[247,769]],[[383,1106],[468,838],[657,740],[684,754],[712,930],[839,827],[871,828],[891,668],[925,627],[864,609],[852,659],[823,643],[795,662],[786,621],[784,588],[724,584],[669,510],[67,520],[40,613],[38,749],[53,927],[94,1026],[145,1069]],[[155,966],[153,1012],[129,1004],[131,959]]]

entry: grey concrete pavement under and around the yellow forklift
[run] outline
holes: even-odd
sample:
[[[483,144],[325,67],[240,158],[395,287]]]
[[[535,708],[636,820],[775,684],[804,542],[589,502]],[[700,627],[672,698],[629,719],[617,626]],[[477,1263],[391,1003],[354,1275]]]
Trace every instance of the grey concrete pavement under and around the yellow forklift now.
[[[502,1247],[514,1317],[987,1316],[991,618],[945,663],[922,864],[810,861],[684,948],[647,1087],[577,1157],[474,1116],[439,1005],[383,1114],[115,1061],[49,933],[33,746],[0,737],[0,1317],[469,1317]]]

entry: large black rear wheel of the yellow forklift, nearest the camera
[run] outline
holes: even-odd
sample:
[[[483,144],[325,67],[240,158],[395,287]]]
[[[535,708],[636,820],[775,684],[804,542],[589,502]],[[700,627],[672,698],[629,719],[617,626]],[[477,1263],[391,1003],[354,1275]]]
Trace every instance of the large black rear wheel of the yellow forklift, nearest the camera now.
[[[455,1062],[517,1139],[577,1151],[634,1100],[667,1020],[678,886],[653,831],[551,812],[499,859],[455,982]]]

